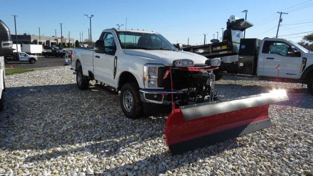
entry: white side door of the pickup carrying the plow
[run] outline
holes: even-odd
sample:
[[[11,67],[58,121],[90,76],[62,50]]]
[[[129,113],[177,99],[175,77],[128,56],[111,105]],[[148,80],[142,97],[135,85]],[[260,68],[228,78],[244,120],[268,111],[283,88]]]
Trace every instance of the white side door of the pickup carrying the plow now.
[[[106,32],[103,40],[105,42],[105,53],[94,53],[93,74],[95,79],[114,87],[113,70],[116,44],[111,32]]]

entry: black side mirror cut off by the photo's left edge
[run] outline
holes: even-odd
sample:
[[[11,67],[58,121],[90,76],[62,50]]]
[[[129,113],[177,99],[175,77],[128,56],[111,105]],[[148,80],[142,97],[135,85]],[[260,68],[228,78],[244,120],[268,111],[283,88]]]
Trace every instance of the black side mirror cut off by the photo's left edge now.
[[[13,51],[13,42],[8,26],[0,20],[0,56],[10,55]]]

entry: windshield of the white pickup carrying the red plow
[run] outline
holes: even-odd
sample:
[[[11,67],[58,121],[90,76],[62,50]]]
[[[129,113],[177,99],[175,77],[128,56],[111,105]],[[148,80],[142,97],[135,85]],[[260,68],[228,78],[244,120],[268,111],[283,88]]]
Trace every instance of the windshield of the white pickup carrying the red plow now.
[[[160,34],[123,31],[117,36],[122,49],[177,50]]]

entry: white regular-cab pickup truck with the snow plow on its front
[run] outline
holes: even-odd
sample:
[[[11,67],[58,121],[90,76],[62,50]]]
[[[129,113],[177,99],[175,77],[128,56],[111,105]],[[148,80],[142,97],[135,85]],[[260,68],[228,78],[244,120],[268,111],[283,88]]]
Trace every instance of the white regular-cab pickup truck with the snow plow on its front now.
[[[72,48],[70,59],[78,88],[87,89],[89,81],[96,80],[120,90],[122,110],[130,118],[142,114],[143,102],[174,101],[183,105],[189,101],[213,100],[214,74],[209,68],[221,63],[220,59],[179,51],[153,31],[114,28],[103,30],[94,49]],[[187,66],[195,66],[199,72],[178,69]],[[172,67],[171,81],[167,71]],[[171,85],[173,101],[167,96],[172,93]],[[195,85],[202,87],[196,91]]]

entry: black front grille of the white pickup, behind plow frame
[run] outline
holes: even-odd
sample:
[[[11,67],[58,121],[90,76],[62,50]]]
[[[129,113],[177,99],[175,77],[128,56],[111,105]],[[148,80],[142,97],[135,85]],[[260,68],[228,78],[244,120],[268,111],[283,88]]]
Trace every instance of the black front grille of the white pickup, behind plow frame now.
[[[157,86],[165,89],[171,89],[171,76],[163,80],[163,76],[169,67],[158,68]],[[173,89],[180,90],[188,88],[188,71],[172,69]]]

